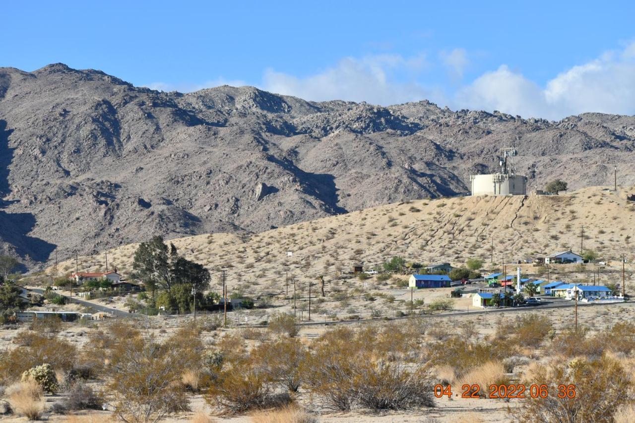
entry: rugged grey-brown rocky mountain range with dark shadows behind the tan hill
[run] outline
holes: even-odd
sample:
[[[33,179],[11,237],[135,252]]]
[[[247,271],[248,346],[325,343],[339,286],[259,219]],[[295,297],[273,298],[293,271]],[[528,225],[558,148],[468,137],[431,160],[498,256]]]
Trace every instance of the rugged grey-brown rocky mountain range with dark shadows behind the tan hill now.
[[[63,64],[0,68],[0,250],[28,265],[152,234],[248,234],[468,191],[518,137],[530,186],[635,182],[635,119],[554,123],[429,102],[307,102],[253,87],[189,94]]]

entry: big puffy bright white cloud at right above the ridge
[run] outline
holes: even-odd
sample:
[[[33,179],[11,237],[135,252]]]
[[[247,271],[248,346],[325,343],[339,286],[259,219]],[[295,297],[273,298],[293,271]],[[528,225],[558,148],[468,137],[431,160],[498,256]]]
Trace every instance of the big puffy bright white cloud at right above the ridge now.
[[[459,90],[454,104],[548,119],[584,112],[635,114],[635,43],[573,66],[544,88],[502,65]]]

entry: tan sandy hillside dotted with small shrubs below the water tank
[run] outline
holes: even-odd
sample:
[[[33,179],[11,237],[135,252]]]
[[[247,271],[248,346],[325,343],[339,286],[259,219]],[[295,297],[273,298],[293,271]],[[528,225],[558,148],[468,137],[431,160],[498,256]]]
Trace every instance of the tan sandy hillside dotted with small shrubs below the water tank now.
[[[400,255],[422,263],[465,264],[467,258],[493,265],[540,254],[584,249],[607,260],[633,255],[635,204],[629,191],[589,187],[559,196],[481,196],[418,200],[321,218],[251,236],[206,234],[172,239],[185,257],[210,270],[225,269],[231,287],[328,279],[363,262],[370,268]],[[108,251],[110,268],[131,271],[137,244]],[[286,252],[293,252],[288,257]],[[80,271],[103,271],[104,252],[79,257]],[[76,262],[60,262],[58,275]],[[55,274],[51,267],[46,273]]]

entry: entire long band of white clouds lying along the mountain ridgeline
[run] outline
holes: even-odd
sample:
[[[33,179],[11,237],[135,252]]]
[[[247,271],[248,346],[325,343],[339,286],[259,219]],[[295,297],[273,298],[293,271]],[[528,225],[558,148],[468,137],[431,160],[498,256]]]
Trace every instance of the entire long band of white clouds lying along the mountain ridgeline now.
[[[260,88],[295,95],[306,100],[351,100],[390,105],[431,100],[453,109],[498,110],[523,117],[561,119],[583,112],[635,114],[635,42],[621,51],[607,51],[596,60],[575,65],[547,81],[544,86],[518,71],[500,65],[455,92],[420,81],[429,70],[443,65],[457,82],[469,65],[462,48],[439,52],[439,63],[425,55],[397,54],[346,57],[336,65],[309,76],[298,77],[267,69]],[[204,84],[148,84],[150,88],[189,92],[221,84],[246,85],[245,81],[216,79]]]

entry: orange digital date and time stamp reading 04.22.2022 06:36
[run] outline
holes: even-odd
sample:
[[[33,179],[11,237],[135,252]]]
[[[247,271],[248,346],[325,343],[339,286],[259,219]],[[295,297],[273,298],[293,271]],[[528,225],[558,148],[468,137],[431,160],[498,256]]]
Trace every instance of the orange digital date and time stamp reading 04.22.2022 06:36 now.
[[[452,393],[452,386],[436,384],[434,386],[434,396],[436,398],[443,398],[447,396],[452,398],[458,394]],[[481,396],[481,386],[478,384],[464,384],[461,386],[460,398],[547,398],[549,396],[549,386],[545,384],[533,384],[525,386],[523,384],[492,384],[489,386],[489,393],[486,396]],[[558,398],[575,398],[575,385],[561,384],[556,389],[556,396]]]

